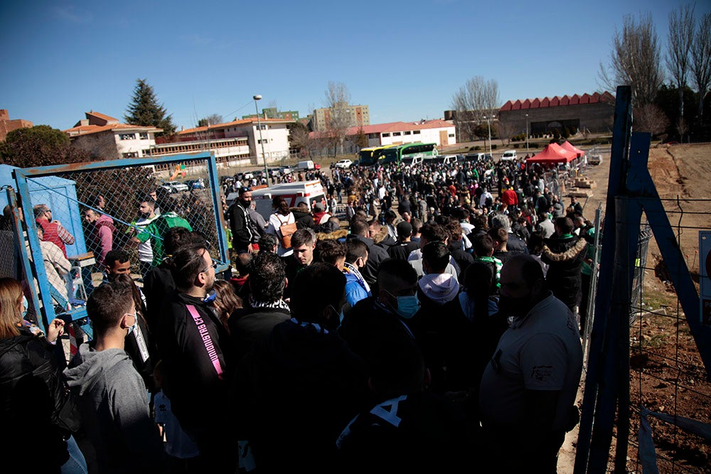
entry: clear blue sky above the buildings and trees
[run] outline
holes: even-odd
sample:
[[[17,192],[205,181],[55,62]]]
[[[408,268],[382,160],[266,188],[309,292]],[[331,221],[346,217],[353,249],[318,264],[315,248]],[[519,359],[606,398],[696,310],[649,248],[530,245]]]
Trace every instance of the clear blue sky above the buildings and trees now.
[[[476,75],[498,81],[501,104],[600,90],[624,15],[650,12],[665,50],[681,3],[6,1],[0,108],[58,129],[91,109],[122,119],[141,77],[179,129],[253,113],[255,94],[306,116],[336,81],[373,124],[435,119]]]

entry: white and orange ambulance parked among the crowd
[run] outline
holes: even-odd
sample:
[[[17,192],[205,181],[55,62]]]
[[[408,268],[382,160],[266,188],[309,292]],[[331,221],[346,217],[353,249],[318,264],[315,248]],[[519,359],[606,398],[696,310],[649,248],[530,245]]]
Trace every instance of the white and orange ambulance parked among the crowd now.
[[[314,211],[314,204],[321,203],[328,212],[326,203],[326,192],[321,181],[296,181],[295,183],[279,183],[264,188],[252,188],[252,201],[255,203],[257,212],[264,219],[269,219],[274,209],[272,209],[272,199],[280,196],[287,201],[289,208],[295,208],[299,203],[306,203],[311,212]],[[227,197],[228,205],[237,199],[237,193],[230,193]]]

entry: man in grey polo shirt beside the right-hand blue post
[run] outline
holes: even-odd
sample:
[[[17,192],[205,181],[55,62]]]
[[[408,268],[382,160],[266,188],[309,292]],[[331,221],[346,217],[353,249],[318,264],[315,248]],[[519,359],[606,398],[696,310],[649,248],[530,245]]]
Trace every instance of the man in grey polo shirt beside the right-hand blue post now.
[[[492,472],[555,473],[565,433],[578,421],[577,323],[529,255],[503,266],[498,304],[511,323],[481,379],[483,452]]]

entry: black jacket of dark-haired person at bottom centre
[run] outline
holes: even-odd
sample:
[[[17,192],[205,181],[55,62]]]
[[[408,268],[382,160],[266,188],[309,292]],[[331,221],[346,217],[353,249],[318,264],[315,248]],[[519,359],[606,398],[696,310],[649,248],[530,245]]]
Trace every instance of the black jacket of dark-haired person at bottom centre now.
[[[238,424],[247,425],[260,472],[336,472],[336,438],[368,397],[363,360],[338,333],[280,323],[238,376],[249,387]]]

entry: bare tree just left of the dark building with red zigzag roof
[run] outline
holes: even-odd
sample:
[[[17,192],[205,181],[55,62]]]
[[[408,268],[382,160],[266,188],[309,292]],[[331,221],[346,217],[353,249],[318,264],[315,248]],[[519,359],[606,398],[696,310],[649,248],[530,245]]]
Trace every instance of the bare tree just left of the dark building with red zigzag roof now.
[[[498,109],[498,82],[484,80],[481,76],[474,76],[459,87],[451,97],[451,108],[456,112],[454,122],[462,136],[473,140],[476,136],[476,126],[481,123],[484,116],[493,115]],[[462,140],[466,141],[466,140]]]

